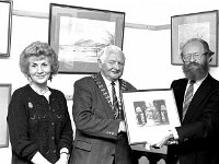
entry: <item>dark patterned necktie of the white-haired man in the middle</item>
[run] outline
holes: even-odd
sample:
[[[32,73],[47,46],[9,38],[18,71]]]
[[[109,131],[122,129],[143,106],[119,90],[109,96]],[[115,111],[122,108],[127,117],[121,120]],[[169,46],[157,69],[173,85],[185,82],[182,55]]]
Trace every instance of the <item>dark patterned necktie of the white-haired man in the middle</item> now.
[[[120,110],[119,110],[118,99],[116,96],[115,83],[112,82],[111,85],[112,85],[114,117],[115,117],[115,119],[120,119]]]

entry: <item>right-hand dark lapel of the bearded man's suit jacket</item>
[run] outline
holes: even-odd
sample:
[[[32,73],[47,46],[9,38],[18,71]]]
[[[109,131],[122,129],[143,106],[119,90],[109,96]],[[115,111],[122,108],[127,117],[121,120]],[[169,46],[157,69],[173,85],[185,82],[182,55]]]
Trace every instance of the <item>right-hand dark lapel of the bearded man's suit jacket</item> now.
[[[183,122],[188,122],[194,117],[195,114],[199,113],[198,110],[199,104],[205,99],[205,97],[210,92],[210,81],[211,81],[211,77],[208,75],[203,81],[203,83],[200,84],[196,93],[194,94]]]

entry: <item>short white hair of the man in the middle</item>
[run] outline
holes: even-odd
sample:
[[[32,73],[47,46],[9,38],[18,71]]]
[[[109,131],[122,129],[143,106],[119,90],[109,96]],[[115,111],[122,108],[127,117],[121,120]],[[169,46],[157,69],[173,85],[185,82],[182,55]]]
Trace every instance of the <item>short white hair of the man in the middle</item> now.
[[[124,59],[126,59],[123,50],[118,46],[115,46],[115,45],[108,45],[108,46],[104,47],[100,51],[97,59],[103,62],[105,60],[105,58],[107,57],[107,55],[113,54],[113,52],[118,52],[118,54],[123,55]]]

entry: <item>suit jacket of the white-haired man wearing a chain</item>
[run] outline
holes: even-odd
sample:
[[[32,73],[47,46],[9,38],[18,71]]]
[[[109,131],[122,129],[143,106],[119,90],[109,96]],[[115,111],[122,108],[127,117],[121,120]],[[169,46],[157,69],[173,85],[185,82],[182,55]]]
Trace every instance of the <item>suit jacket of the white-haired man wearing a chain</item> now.
[[[119,79],[120,90],[136,90]],[[85,77],[74,83],[73,120],[76,139],[70,164],[112,164],[117,145],[119,120],[114,119],[110,95],[102,75]],[[127,137],[119,144],[122,162],[131,164]]]

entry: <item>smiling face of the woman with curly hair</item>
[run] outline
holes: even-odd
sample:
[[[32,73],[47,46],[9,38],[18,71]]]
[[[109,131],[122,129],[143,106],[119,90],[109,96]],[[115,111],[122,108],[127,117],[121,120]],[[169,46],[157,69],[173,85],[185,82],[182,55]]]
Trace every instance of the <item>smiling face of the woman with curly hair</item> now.
[[[37,85],[47,84],[51,72],[49,59],[43,56],[33,56],[30,57],[28,62],[28,71],[32,82]]]

